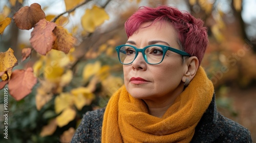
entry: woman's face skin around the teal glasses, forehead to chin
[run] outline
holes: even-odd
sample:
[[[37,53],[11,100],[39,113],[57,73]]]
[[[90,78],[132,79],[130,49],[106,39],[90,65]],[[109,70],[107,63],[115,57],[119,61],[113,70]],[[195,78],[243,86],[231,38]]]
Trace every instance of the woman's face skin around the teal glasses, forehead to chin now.
[[[141,25],[145,27],[152,22]],[[139,28],[129,37],[126,44],[138,49],[151,44],[161,44],[180,50],[177,32],[169,22],[155,22],[147,28]],[[164,100],[183,91],[182,77],[185,72],[182,56],[167,51],[160,64],[147,64],[139,52],[132,64],[123,65],[124,84],[134,98]]]

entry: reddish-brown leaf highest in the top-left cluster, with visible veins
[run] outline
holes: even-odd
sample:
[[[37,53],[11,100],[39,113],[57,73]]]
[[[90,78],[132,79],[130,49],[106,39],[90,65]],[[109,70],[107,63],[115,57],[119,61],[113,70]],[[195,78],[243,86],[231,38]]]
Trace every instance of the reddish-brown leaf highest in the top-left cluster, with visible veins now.
[[[34,3],[29,6],[20,8],[13,16],[14,22],[19,29],[30,30],[35,24],[46,18],[46,14],[42,11],[41,6]]]

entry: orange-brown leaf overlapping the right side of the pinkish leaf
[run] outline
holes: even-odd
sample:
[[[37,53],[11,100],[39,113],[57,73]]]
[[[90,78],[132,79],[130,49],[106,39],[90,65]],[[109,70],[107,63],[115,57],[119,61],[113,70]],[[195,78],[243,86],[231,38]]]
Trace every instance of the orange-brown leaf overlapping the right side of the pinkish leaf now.
[[[68,31],[61,26],[56,26],[56,28],[53,30],[53,33],[56,36],[53,49],[68,54],[75,43],[74,37],[71,36],[71,34],[69,34]]]

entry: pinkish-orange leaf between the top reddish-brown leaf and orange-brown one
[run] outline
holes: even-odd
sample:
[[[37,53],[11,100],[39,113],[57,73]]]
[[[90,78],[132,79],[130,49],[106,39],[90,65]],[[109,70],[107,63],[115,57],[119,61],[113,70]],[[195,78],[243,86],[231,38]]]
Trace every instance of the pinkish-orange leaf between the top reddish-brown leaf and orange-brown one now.
[[[46,55],[52,49],[56,39],[52,31],[56,26],[54,22],[49,22],[46,19],[41,19],[36,23],[35,28],[31,32],[30,43],[37,53]]]

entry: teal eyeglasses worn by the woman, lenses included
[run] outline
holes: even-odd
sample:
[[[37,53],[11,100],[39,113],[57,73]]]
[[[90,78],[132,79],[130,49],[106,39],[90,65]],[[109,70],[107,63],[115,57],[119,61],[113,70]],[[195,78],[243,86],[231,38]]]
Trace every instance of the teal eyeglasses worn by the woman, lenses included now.
[[[145,46],[143,49],[138,49],[128,44],[116,46],[116,52],[121,64],[131,64],[136,59],[139,52],[142,53],[146,63],[159,64],[163,61],[167,50],[190,57],[188,53],[166,45],[153,44]]]

